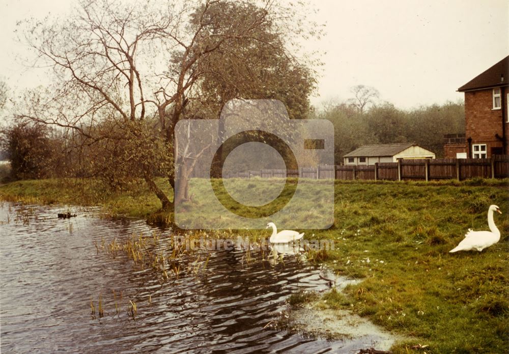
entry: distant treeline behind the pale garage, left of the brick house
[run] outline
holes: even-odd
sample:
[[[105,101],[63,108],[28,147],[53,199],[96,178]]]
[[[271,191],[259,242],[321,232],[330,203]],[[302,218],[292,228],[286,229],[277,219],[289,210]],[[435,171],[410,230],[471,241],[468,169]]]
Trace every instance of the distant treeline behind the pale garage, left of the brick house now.
[[[334,124],[336,165],[343,155],[366,144],[416,143],[443,156],[443,135],[465,131],[463,102],[401,110],[385,102],[361,113],[352,104],[328,104],[316,113]]]

